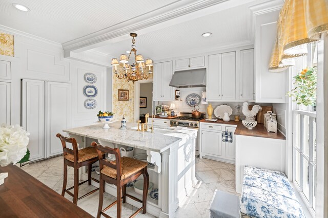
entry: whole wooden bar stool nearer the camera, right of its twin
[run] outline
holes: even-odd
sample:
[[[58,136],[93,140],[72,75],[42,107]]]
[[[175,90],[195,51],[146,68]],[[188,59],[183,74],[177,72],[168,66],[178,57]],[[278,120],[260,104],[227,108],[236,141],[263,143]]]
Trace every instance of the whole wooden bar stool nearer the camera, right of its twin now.
[[[117,204],[117,217],[121,217],[122,202],[125,203],[126,197],[142,203],[142,207],[135,211],[130,217],[134,217],[141,210],[142,213],[146,213],[146,200],[149,186],[149,175],[147,172],[148,163],[130,157],[121,158],[119,149],[117,148],[104,148],[94,141],[91,143],[91,145],[97,149],[100,164],[100,190],[97,218],[100,217],[100,215],[111,218],[104,212],[115,204]],[[105,154],[114,154],[115,160],[107,161],[106,159],[103,159],[104,156],[102,155],[102,152]],[[144,191],[142,192],[142,201],[126,193],[127,184],[136,180],[141,174],[144,176]],[[105,182],[116,185],[117,198],[115,202],[103,209]]]

